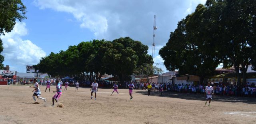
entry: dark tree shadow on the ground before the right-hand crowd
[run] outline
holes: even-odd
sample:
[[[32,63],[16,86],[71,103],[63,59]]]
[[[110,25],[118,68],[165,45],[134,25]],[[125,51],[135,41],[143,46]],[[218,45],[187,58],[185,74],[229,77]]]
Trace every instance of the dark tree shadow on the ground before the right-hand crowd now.
[[[146,90],[137,90],[136,93],[148,95]],[[159,97],[171,97],[171,98],[181,98],[186,100],[206,100],[206,96],[203,94],[185,94],[185,93],[177,93],[177,92],[162,92],[162,96],[160,96],[159,92],[151,92],[150,96],[159,96]],[[243,102],[248,104],[256,104],[256,98],[249,97],[237,97],[237,96],[212,96],[213,101],[218,102]]]

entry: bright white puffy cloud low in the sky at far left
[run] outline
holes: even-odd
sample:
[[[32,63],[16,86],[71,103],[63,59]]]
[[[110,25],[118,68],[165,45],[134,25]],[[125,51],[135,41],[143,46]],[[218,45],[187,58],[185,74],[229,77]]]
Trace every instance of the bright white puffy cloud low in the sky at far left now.
[[[2,35],[4,51],[4,64],[10,65],[10,70],[17,69],[19,72],[25,72],[26,65],[37,64],[41,57],[46,56],[42,48],[33,44],[30,40],[22,40],[22,36],[28,34],[25,23],[17,22],[12,32]]]

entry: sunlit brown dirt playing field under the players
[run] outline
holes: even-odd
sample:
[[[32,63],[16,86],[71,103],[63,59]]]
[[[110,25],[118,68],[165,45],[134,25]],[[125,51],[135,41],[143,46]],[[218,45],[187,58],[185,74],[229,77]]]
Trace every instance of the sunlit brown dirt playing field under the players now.
[[[40,87],[41,91],[45,86]],[[120,89],[120,96],[110,89],[99,89],[97,100],[90,100],[90,89],[68,87],[59,102],[64,108],[32,104],[33,88],[28,86],[0,86],[1,124],[256,124],[255,98],[213,97],[211,107],[204,106],[203,95],[171,94],[159,96],[144,90],[134,90],[129,100],[128,90]],[[55,90],[42,92],[52,103]]]

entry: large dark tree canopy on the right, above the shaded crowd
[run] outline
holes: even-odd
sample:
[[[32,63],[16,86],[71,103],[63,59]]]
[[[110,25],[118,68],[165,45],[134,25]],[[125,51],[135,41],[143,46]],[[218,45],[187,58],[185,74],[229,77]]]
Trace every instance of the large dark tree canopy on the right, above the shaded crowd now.
[[[255,62],[254,0],[207,0],[195,12],[178,22],[159,54],[168,70],[180,74],[214,74],[218,64],[234,66],[238,84],[239,70],[246,79],[248,65]]]

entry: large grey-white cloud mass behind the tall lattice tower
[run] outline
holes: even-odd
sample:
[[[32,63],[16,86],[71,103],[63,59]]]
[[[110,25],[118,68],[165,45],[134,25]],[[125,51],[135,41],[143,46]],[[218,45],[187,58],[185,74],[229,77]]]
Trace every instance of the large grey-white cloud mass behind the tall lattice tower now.
[[[206,0],[34,0],[40,9],[68,12],[97,39],[129,36],[149,46],[152,55],[153,19],[156,14],[155,62],[177,23]]]

